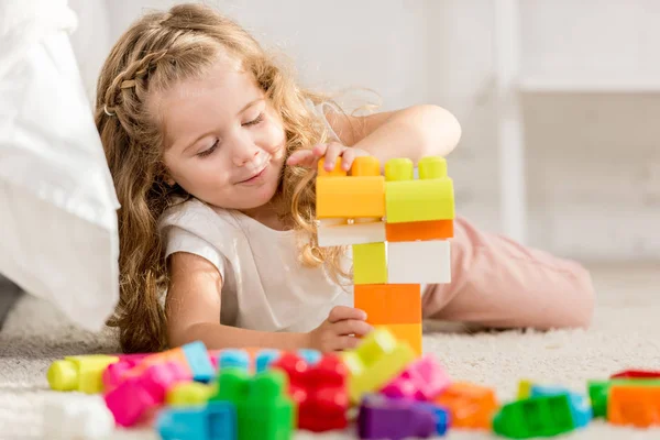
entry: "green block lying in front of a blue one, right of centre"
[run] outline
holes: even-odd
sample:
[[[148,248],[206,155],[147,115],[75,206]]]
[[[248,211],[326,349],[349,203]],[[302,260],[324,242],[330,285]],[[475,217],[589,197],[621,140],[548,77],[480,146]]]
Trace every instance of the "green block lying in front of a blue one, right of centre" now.
[[[512,439],[552,437],[575,428],[569,396],[529,397],[504,405],[493,418],[493,431]]]

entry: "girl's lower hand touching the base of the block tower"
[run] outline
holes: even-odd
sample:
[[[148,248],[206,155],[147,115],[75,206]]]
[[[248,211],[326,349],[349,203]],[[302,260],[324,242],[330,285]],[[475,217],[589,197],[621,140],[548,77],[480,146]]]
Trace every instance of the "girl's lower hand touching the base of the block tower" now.
[[[365,319],[363,310],[337,306],[330,310],[328,319],[307,333],[307,346],[321,353],[354,349],[360,343],[355,337],[363,337],[372,330]]]

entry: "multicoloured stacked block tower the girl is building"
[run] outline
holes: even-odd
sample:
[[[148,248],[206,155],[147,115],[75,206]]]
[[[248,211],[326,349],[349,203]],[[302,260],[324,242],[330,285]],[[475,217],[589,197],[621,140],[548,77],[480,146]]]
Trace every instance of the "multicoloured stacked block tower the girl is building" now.
[[[421,285],[451,282],[453,182],[447,161],[358,157],[350,174],[318,165],[319,246],[351,245],[354,306],[421,354]]]

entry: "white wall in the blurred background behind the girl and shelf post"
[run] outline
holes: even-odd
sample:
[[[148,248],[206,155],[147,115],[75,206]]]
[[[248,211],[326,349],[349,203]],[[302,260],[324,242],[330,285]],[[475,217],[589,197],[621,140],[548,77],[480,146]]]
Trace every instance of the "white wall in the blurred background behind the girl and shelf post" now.
[[[454,112],[463,127],[461,145],[449,157],[459,213],[498,231],[494,1],[207,3],[289,53],[308,85],[373,88],[384,109],[433,102]],[[174,2],[72,3],[87,23],[76,45],[94,90],[101,54],[141,8]],[[660,258],[660,30],[654,28],[660,2],[520,4],[522,79],[546,86],[561,80],[579,89],[522,95],[531,244],[583,258]],[[596,81],[616,87],[580,92]],[[625,91],[641,82],[653,92]]]

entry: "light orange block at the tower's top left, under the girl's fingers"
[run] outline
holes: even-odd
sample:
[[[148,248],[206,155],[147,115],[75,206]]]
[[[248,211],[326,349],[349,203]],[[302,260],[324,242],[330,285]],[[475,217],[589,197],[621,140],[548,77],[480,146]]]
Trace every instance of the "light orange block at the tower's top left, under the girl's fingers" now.
[[[318,164],[316,182],[317,219],[385,217],[385,176],[380,175],[378,160],[355,158],[351,176],[341,169],[341,161],[332,172]]]

